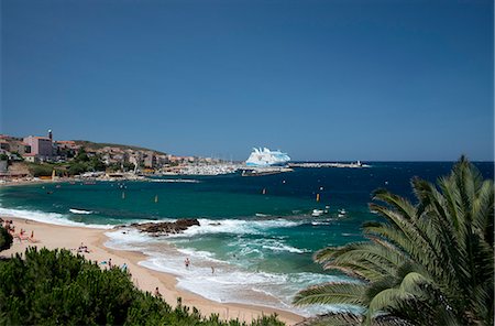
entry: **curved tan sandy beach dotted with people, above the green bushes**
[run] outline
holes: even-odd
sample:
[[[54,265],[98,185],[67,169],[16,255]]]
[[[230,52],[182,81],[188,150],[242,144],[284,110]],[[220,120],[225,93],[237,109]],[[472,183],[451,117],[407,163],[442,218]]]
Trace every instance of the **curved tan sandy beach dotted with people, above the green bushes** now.
[[[88,260],[102,262],[111,259],[112,264],[114,265],[122,265],[123,263],[127,263],[129,271],[132,274],[132,281],[136,286],[143,291],[148,291],[152,293],[156,287],[158,287],[164,300],[173,306],[176,304],[177,298],[182,297],[185,305],[197,307],[202,315],[216,313],[224,319],[239,318],[241,320],[250,322],[251,319],[263,314],[270,315],[273,313],[276,313],[279,319],[287,323],[287,325],[295,325],[304,319],[302,316],[290,312],[255,305],[217,303],[190,292],[180,291],[176,289],[177,281],[174,275],[153,271],[139,265],[140,261],[146,259],[143,253],[135,251],[112,250],[105,247],[105,242],[108,240],[105,235],[106,230],[48,225],[14,217],[7,218],[13,220],[16,232],[19,232],[22,228],[26,230],[26,235],[30,236],[33,231],[34,238],[37,242],[32,243],[26,240],[20,241],[19,239],[14,239],[12,247],[9,250],[0,252],[0,256],[2,257],[22,253],[30,246],[36,246],[38,248],[45,247],[48,249],[65,248],[76,253],[77,248],[81,242],[84,242],[90,252],[81,254],[84,254]]]

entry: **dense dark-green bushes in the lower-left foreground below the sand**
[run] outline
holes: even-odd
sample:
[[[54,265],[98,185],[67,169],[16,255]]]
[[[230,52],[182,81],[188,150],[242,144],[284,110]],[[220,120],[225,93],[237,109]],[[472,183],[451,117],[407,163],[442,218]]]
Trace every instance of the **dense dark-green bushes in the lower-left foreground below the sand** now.
[[[178,302],[139,291],[118,268],[101,270],[68,250],[30,248],[0,262],[0,324],[2,325],[204,325],[240,326],[218,315],[202,317]],[[282,326],[276,316],[252,326]]]

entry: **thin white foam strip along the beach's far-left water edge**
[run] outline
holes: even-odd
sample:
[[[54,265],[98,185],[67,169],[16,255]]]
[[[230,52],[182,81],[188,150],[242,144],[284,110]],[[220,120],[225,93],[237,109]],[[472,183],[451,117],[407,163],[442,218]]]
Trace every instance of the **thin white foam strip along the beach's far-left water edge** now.
[[[0,207],[0,215],[7,215],[12,217],[25,218],[30,220],[59,225],[59,226],[73,226],[73,227],[86,227],[96,229],[111,229],[112,225],[96,225],[96,224],[84,224],[68,219],[66,215],[58,213],[46,213],[41,210],[26,210],[16,208],[3,208]]]

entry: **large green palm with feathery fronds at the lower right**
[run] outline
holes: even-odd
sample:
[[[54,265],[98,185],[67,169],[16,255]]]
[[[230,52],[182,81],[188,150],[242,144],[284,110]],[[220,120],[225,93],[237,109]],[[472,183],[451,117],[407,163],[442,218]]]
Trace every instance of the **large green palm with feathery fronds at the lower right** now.
[[[369,241],[329,247],[315,260],[355,282],[299,292],[294,302],[346,304],[330,325],[493,325],[494,184],[464,156],[438,186],[411,181],[417,204],[378,189],[363,226]],[[354,312],[354,313],[353,313]]]

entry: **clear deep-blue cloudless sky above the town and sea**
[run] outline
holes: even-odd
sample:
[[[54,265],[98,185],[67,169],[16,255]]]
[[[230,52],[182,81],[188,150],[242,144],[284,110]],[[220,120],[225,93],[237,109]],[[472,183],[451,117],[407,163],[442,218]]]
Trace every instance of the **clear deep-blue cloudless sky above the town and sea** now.
[[[494,155],[493,1],[1,0],[13,135],[245,160]]]

